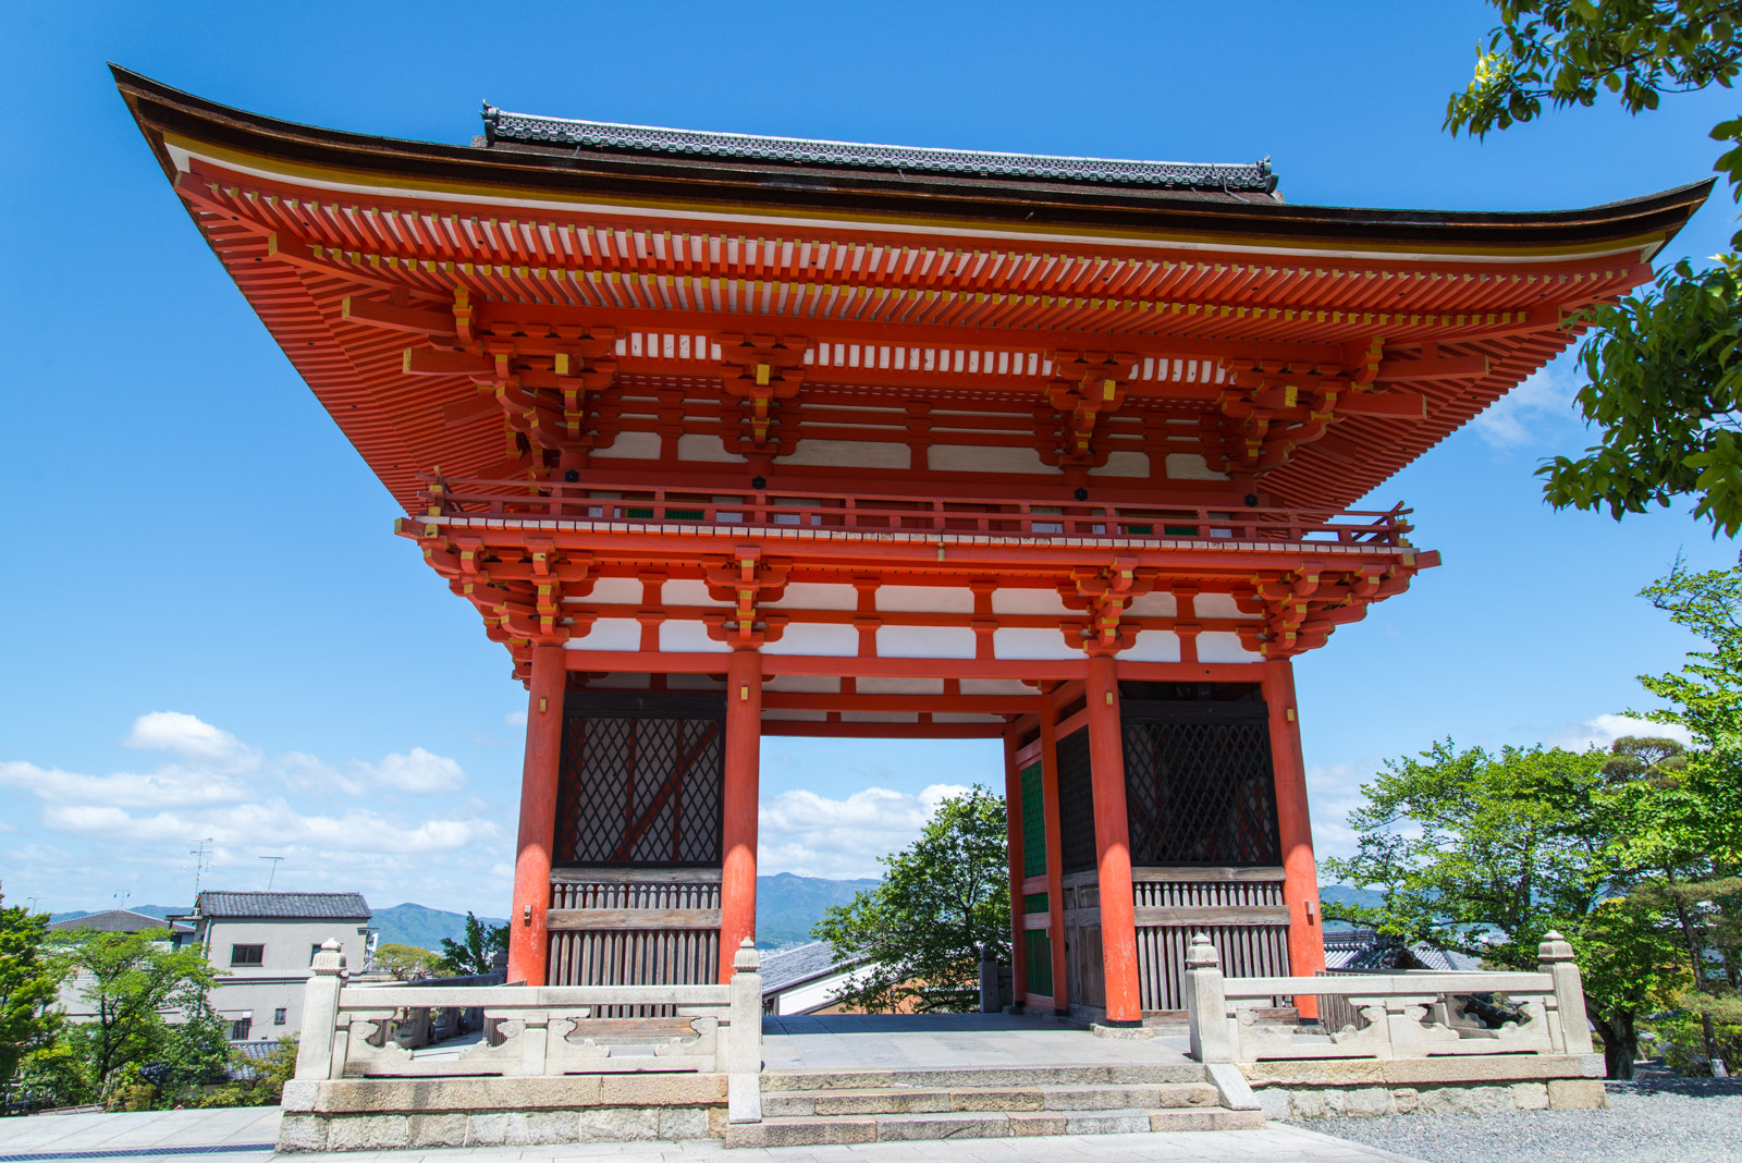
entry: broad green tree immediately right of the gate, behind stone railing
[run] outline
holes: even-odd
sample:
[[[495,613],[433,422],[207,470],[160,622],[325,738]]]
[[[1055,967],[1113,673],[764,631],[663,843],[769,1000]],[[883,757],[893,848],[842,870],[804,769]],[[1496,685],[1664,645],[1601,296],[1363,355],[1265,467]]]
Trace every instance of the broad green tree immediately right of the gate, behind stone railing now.
[[[1608,759],[1446,740],[1387,763],[1350,813],[1355,855],[1324,862],[1333,881],[1381,886],[1381,904],[1327,902],[1324,916],[1516,970],[1533,968],[1543,933],[1559,930],[1580,952],[1610,1076],[1631,1078],[1637,1015],[1681,978],[1660,919],[1625,900],[1629,817],[1608,794]]]

